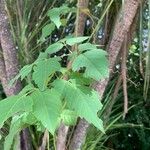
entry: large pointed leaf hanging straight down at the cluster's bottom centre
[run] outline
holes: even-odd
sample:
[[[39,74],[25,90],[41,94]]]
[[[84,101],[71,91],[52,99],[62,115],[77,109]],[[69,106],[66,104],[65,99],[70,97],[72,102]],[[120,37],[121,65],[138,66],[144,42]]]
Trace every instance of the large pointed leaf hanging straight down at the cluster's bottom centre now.
[[[54,134],[60,123],[62,108],[60,94],[51,89],[44,92],[36,91],[31,96],[34,104],[33,114],[50,133]]]

